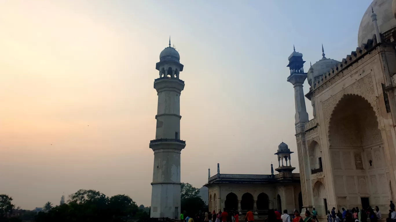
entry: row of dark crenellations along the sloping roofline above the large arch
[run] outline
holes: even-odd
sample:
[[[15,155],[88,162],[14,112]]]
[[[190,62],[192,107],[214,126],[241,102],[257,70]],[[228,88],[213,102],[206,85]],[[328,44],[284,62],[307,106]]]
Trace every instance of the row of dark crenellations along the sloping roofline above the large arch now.
[[[360,47],[357,47],[356,51],[352,51],[350,55],[347,55],[346,58],[343,58],[341,63],[339,63],[337,66],[334,66],[329,72],[323,74],[322,77],[319,77],[319,79],[312,85],[313,90],[323,86],[324,83],[326,83],[329,79],[333,78],[338,73],[344,71],[346,68],[354,64],[357,60],[364,57],[366,54],[372,51],[377,46],[377,44],[377,40],[375,36],[373,36],[373,39],[367,40],[366,44],[363,43]],[[331,85],[331,83],[329,85]]]

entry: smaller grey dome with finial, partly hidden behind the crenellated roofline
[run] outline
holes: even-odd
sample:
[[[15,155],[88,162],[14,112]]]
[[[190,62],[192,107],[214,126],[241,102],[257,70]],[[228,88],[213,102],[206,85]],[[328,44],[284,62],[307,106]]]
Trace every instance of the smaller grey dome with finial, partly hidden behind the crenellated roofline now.
[[[322,45],[322,58],[318,62],[315,62],[307,72],[308,84],[312,86],[312,79],[321,77],[323,74],[327,73],[331,68],[334,68],[334,66],[337,66],[338,64],[339,61],[325,57]]]

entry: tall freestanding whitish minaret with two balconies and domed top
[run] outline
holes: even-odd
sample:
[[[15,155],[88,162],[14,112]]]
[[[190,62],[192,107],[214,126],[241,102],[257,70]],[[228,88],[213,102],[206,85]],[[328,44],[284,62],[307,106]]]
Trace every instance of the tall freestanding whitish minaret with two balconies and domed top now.
[[[160,77],[154,80],[158,107],[155,139],[150,141],[154,151],[154,169],[151,192],[151,217],[180,219],[180,152],[186,142],[180,140],[180,93],[184,81],[179,79],[183,71],[179,53],[166,47],[156,64]]]

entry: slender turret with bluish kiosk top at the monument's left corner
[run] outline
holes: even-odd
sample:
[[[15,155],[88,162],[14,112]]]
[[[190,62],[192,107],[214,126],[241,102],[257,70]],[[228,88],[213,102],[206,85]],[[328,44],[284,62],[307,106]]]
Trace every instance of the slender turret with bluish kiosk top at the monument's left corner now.
[[[324,53],[323,53],[324,57]],[[295,100],[295,125],[301,126],[305,122],[308,122],[307,108],[305,107],[305,97],[303,91],[303,83],[307,79],[307,73],[304,72],[303,54],[295,51],[293,45],[293,53],[289,56],[289,64],[287,67],[290,68],[290,75],[287,77],[287,81],[294,86],[294,100]],[[313,84],[313,83],[312,83]]]

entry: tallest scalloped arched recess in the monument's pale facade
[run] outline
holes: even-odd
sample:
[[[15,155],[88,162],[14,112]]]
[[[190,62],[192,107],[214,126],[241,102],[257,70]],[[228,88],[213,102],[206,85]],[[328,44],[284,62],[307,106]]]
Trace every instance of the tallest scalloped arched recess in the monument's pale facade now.
[[[358,194],[364,197],[359,201],[369,203],[373,194],[390,195],[388,186],[379,183],[386,177],[381,173],[386,167],[383,141],[375,111],[365,98],[348,94],[339,100],[329,120],[328,138],[336,196],[348,199],[349,194]],[[388,205],[385,198],[379,201],[377,205]],[[337,206],[341,207],[346,206]]]

